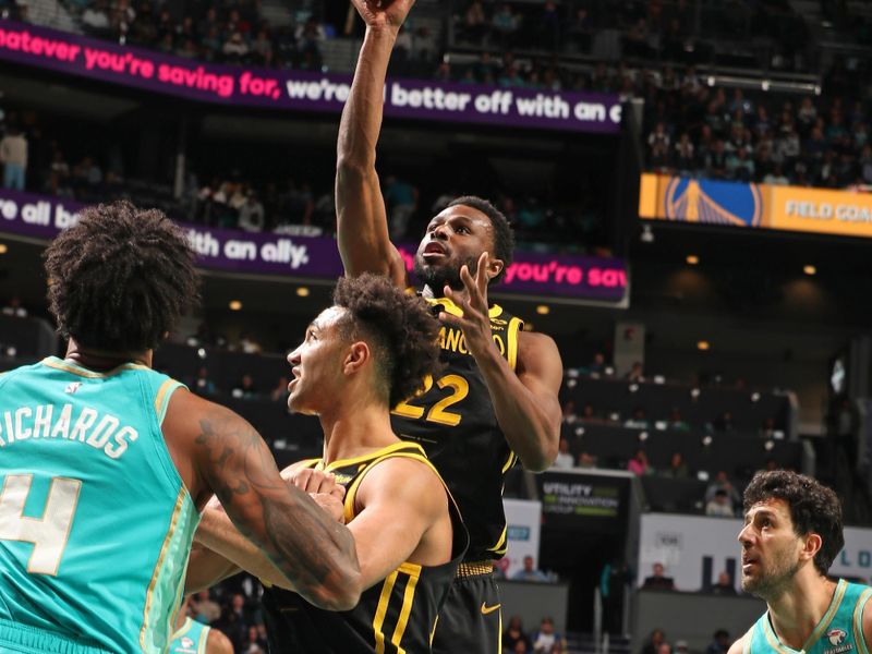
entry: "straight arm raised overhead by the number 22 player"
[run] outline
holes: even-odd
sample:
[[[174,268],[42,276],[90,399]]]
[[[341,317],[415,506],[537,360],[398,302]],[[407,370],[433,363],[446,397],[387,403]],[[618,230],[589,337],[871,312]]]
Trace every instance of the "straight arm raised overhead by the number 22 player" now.
[[[390,52],[414,0],[353,0],[366,23],[351,93],[339,123],[336,216],[339,254],[348,275],[375,272],[405,284],[405,266],[388,234],[375,147]]]

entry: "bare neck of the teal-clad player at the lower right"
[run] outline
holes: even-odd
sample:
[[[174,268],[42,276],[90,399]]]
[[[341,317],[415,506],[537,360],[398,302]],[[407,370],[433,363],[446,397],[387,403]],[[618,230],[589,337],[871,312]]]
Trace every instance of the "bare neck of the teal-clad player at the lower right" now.
[[[767,598],[770,620],[778,640],[794,650],[806,640],[823,619],[833,602],[835,582],[818,574],[813,566],[802,570],[777,597]]]

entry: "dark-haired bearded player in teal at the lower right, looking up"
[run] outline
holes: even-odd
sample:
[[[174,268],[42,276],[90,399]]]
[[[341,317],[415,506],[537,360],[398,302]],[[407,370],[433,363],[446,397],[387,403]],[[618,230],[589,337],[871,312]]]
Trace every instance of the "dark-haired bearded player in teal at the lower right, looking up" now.
[[[795,472],[759,472],[744,492],[739,542],[742,590],[768,610],[729,654],[869,654],[872,589],[826,574],[845,545],[833,491]]]

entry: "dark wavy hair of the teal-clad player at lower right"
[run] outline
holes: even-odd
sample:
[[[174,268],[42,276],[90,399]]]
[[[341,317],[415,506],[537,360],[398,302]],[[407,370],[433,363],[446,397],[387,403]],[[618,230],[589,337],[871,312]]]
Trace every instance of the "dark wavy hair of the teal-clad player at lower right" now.
[[[787,502],[794,531],[798,536],[811,533],[821,536],[821,549],[814,555],[814,567],[825,576],[836,555],[845,546],[841,502],[838,496],[804,474],[788,470],[758,472],[744,489],[744,512],[770,499],[783,499]]]

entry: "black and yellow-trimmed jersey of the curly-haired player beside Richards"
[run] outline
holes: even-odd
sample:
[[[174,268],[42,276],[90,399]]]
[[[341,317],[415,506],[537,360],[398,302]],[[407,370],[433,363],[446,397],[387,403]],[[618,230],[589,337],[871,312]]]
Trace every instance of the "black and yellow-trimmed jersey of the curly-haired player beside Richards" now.
[[[354,499],[366,473],[386,459],[404,457],[435,468],[421,447],[397,443],[365,457],[334,461],[320,459],[303,464],[327,470],[346,487],[346,522],[354,519]],[[447,488],[446,488],[447,493]],[[365,590],[358,606],[347,611],[316,608],[296,593],[264,584],[264,617],[270,652],[306,654],[409,654],[429,652],[439,608],[448,595],[469,536],[460,511],[448,493],[453,528],[451,560],[441,566],[404,562],[388,577]],[[385,543],[390,547],[390,543]]]

